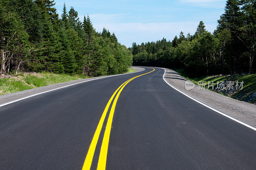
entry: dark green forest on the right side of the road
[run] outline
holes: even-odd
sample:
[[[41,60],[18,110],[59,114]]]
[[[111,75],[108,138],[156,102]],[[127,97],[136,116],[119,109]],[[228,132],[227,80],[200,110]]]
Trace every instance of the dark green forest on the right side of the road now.
[[[228,0],[213,33],[200,21],[194,35],[172,42],[132,43],[133,65],[184,68],[191,76],[255,73],[256,3]]]

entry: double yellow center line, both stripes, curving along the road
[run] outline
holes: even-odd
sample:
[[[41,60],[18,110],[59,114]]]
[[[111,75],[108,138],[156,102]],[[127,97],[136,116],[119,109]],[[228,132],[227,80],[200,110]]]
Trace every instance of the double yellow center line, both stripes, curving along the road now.
[[[147,68],[150,68],[150,67],[147,67]],[[155,71],[154,68],[152,68],[152,69],[153,70],[151,72]],[[148,72],[148,73],[151,73],[151,72]],[[145,74],[148,74],[148,73],[145,73]],[[113,120],[113,116],[114,116],[114,112],[115,112],[115,108],[116,108],[117,99],[118,99],[120,93],[122,92],[122,90],[124,89],[124,87],[126,86],[126,84],[128,84],[133,79],[135,79],[137,77],[140,77],[142,75],[145,75],[145,74],[138,75],[136,77],[133,77],[133,78],[125,81],[121,86],[118,87],[118,89],[116,89],[114,94],[109,99],[108,104],[107,104],[107,106],[104,109],[104,112],[103,112],[103,114],[102,114],[102,116],[100,118],[100,122],[99,122],[99,124],[98,124],[98,126],[96,128],[96,131],[94,133],[94,136],[92,138],[92,143],[91,143],[91,145],[89,147],[88,153],[87,153],[85,161],[84,161],[83,170],[89,170],[91,168],[92,158],[93,158],[93,155],[94,155],[94,152],[95,152],[96,145],[97,145],[98,140],[99,140],[100,131],[102,129],[103,122],[104,122],[104,120],[106,118],[109,106],[110,106],[113,98],[115,97],[115,95],[117,93],[117,95],[116,95],[116,97],[114,99],[114,102],[112,104],[109,116],[108,116],[107,126],[106,126],[106,129],[105,129],[103,141],[102,141],[101,148],[100,148],[100,157],[99,157],[98,167],[97,167],[97,169],[105,169],[106,168],[107,153],[108,153],[108,142],[109,142],[110,130],[111,130],[112,120]]]

